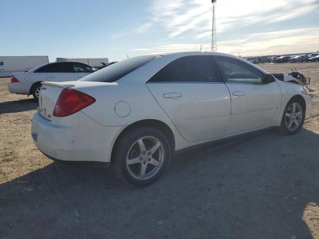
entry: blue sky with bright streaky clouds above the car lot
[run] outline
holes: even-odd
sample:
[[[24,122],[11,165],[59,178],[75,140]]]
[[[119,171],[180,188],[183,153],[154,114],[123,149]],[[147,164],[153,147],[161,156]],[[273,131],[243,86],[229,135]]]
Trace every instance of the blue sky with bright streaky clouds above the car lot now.
[[[319,50],[319,0],[217,0],[217,51]],[[210,51],[211,0],[0,0],[0,56]]]

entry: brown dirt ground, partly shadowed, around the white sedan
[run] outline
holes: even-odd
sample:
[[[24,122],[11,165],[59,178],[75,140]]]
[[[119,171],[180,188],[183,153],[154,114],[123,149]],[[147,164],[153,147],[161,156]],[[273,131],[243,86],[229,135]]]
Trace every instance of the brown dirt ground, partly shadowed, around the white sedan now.
[[[260,66],[311,76],[304,128],[176,155],[142,189],[43,156],[30,134],[36,103],[0,78],[0,238],[319,239],[319,63]]]

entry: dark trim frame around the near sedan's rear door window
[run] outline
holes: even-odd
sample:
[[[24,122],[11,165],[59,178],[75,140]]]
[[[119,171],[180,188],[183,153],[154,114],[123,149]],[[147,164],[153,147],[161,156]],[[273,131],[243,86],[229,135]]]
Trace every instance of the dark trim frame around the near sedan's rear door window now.
[[[213,71],[216,73],[216,77],[217,79],[221,79],[221,81],[219,82],[207,82],[207,81],[156,81],[156,82],[150,82],[151,79],[156,75],[158,74],[162,69],[164,69],[166,66],[168,66],[169,64],[173,63],[174,61],[176,60],[179,60],[181,58],[185,58],[185,57],[196,57],[196,56],[202,56],[202,57],[207,57],[208,58],[208,61],[210,62],[212,68],[213,68]],[[177,76],[177,73],[176,73],[176,70],[174,68],[174,72],[175,72],[175,75]],[[194,83],[206,83],[206,84],[225,84],[224,82],[224,79],[223,77],[221,76],[220,74],[220,71],[219,71],[219,68],[217,66],[217,64],[213,61],[211,55],[188,55],[188,56],[182,56],[182,57],[179,57],[179,58],[176,58],[172,61],[170,61],[169,63],[167,63],[165,66],[163,66],[159,71],[157,71],[152,77],[150,77],[150,79],[146,82],[146,84],[160,84],[160,83],[191,83],[191,84],[194,84]]]

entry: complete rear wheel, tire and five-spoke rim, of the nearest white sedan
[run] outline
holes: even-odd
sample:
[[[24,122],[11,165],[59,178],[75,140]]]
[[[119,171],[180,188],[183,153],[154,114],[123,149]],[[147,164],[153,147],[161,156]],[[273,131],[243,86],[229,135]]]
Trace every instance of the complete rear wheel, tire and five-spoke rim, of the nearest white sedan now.
[[[147,186],[166,171],[171,148],[158,129],[141,126],[124,133],[115,146],[112,168],[127,184]]]

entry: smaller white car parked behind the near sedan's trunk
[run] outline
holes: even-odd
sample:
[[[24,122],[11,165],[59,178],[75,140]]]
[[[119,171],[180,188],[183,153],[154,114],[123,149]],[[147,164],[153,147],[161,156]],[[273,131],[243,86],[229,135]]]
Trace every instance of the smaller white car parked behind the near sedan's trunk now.
[[[43,81],[76,81],[97,71],[79,62],[54,62],[38,66],[28,72],[13,73],[8,90],[13,94],[33,95],[38,99]]]

